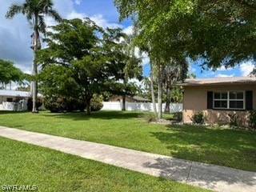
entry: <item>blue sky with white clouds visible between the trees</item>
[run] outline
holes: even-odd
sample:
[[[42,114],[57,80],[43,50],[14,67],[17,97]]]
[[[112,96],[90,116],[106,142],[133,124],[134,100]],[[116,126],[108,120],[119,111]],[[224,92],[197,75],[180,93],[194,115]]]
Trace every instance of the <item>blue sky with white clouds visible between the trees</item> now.
[[[30,49],[30,34],[32,29],[29,22],[22,14],[14,16],[13,19],[6,19],[6,12],[13,2],[22,3],[25,0],[0,0],[0,58],[13,61],[18,68],[30,74],[33,61],[33,52]],[[127,34],[132,33],[132,22],[126,20],[118,22],[118,11],[113,0],[53,0],[54,9],[58,10],[62,18],[85,18],[90,17],[98,26],[103,28],[120,27]],[[54,25],[51,19],[47,24]],[[149,58],[142,55],[143,74],[150,73]],[[243,62],[234,68],[221,67],[218,70],[204,70],[200,63],[190,63],[190,73],[196,74],[197,78],[218,78],[247,76],[254,68],[254,62]]]

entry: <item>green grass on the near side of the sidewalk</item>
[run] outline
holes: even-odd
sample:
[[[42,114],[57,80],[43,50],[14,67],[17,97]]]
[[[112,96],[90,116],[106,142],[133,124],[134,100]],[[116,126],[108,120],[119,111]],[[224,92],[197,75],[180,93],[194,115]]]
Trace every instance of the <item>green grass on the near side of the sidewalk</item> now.
[[[0,146],[1,191],[10,185],[38,191],[208,191],[7,138],[0,137]]]

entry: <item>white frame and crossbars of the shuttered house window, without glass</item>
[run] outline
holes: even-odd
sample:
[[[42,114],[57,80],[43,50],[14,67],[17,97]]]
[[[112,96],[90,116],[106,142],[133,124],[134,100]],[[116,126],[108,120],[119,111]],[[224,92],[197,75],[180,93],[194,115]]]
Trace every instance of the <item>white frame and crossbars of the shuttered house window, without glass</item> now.
[[[242,98],[230,98],[230,92],[242,92]],[[216,93],[226,93],[227,98],[215,98]],[[226,101],[227,106],[225,107],[215,107],[215,101]],[[230,102],[242,102],[242,108],[230,108]],[[226,91],[213,91],[213,109],[214,110],[246,110],[246,91],[245,90],[226,90]]]

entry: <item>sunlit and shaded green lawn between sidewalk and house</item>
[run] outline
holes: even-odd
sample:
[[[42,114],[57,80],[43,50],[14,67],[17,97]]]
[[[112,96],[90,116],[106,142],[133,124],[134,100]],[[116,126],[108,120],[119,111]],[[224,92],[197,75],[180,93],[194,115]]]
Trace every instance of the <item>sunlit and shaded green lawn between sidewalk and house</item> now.
[[[145,113],[0,112],[0,125],[256,171],[256,133],[147,123]]]

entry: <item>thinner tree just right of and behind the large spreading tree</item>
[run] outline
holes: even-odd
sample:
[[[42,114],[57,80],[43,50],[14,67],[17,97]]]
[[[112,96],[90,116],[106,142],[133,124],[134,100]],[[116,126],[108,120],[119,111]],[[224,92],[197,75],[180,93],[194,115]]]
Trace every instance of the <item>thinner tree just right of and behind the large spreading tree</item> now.
[[[131,45],[132,36],[122,33],[121,29],[106,29],[103,36],[104,47],[111,57],[115,79],[122,81],[122,110],[126,110],[126,95],[131,93],[130,78],[142,79],[141,58],[135,56],[135,48]]]

